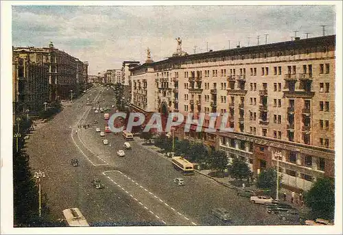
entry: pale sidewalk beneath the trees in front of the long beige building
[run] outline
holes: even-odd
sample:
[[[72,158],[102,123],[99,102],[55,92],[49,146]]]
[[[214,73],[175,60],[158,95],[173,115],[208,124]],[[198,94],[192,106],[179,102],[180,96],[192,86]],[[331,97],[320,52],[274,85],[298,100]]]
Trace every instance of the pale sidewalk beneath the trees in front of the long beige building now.
[[[143,148],[145,149],[149,149],[150,151],[154,151],[155,153],[158,154],[158,156],[161,156],[162,158],[165,158],[167,160],[170,160],[170,158],[168,158],[165,154],[160,153],[159,151],[161,151],[162,149],[154,146],[154,145],[143,145],[143,143],[145,143],[145,141],[141,138],[139,138],[138,136],[135,137],[135,141],[137,143],[139,143],[139,145],[141,145]],[[204,175],[206,177],[209,177],[210,179],[214,180],[215,182],[217,182],[218,184],[222,184],[223,186],[226,186],[228,188],[232,188],[235,190],[242,190],[242,187],[238,187],[233,185],[233,181],[234,179],[232,179],[231,177],[212,177],[211,175],[209,175],[212,171],[211,170],[201,170],[201,171],[197,171],[197,173]],[[257,186],[255,184],[251,184],[250,186],[246,186],[245,189],[247,190],[259,190],[259,188],[257,188]],[[300,203],[298,203],[298,198],[299,198],[299,194],[296,193],[295,197],[294,197],[294,203],[291,202],[291,195],[292,195],[292,191],[287,190],[286,188],[279,188],[279,195],[283,195],[283,193],[286,193],[287,197],[286,197],[286,201],[283,201],[283,198],[279,198],[279,201],[281,201],[282,203],[288,203],[291,204],[294,208],[298,209],[301,212],[306,212],[308,209],[305,208],[305,206],[301,206]]]

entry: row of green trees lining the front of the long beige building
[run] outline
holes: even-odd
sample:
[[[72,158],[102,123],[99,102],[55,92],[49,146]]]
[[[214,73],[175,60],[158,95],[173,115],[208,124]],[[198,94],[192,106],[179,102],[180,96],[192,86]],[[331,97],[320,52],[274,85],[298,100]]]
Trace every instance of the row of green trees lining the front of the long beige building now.
[[[163,149],[163,153],[173,151],[173,138],[169,138],[165,134],[154,136],[152,132],[142,132],[141,138],[146,143],[154,143],[156,147]],[[229,175],[236,180],[236,185],[242,185],[244,182],[246,186],[250,186],[254,182],[257,188],[275,198],[277,173],[274,168],[261,171],[255,179],[245,160],[234,158],[229,162],[224,151],[217,151],[206,147],[202,143],[193,143],[189,140],[174,140],[174,154],[175,156],[184,156],[190,162],[198,164],[201,170],[212,170],[212,176],[225,177]],[[279,174],[279,185],[282,185],[282,174]],[[318,178],[309,191],[301,193],[304,196],[303,202],[305,206],[310,209],[309,218],[333,219],[335,211],[333,179],[328,177]]]

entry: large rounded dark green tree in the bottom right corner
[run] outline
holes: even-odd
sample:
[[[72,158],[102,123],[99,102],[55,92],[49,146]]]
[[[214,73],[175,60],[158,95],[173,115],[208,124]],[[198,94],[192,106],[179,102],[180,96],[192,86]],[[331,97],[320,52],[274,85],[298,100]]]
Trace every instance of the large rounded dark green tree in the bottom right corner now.
[[[314,218],[333,219],[335,213],[335,184],[329,177],[318,178],[305,193],[304,201]]]

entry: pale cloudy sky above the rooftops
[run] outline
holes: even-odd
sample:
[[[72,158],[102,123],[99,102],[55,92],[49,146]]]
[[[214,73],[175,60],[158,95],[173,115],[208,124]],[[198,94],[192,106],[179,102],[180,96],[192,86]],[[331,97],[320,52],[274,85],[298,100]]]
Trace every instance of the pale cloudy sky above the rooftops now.
[[[143,64],[147,47],[152,60],[164,60],[176,51],[177,37],[191,54],[247,47],[248,37],[250,45],[257,36],[264,44],[265,34],[268,43],[291,40],[294,30],[300,38],[322,36],[320,25],[335,34],[335,5],[12,5],[14,47],[52,41],[88,61],[89,75],[120,69],[124,60]]]

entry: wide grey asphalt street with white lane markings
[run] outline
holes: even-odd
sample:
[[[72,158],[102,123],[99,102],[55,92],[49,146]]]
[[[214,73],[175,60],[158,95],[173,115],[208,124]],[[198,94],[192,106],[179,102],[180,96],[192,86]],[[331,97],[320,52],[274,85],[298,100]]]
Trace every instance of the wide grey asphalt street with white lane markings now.
[[[106,121],[104,113],[93,110],[110,107],[113,97],[112,88],[93,88],[54,119],[38,125],[27,140],[32,170],[45,171],[42,190],[54,219],[62,219],[62,210],[78,207],[95,226],[281,223],[265,206],[250,203],[204,175],[181,175],[168,159],[138,143],[138,137],[125,157],[117,156],[126,141],[121,134],[99,136],[95,128],[104,131]],[[87,98],[91,106],[86,106]],[[110,114],[113,112],[112,108]],[[92,126],[78,128],[85,124]],[[103,145],[105,138],[109,145]],[[80,166],[72,166],[72,158],[78,158]],[[184,178],[185,186],[174,184],[176,177]],[[105,188],[96,189],[91,184],[95,178]],[[212,208],[226,208],[233,220],[224,223],[211,214]]]

